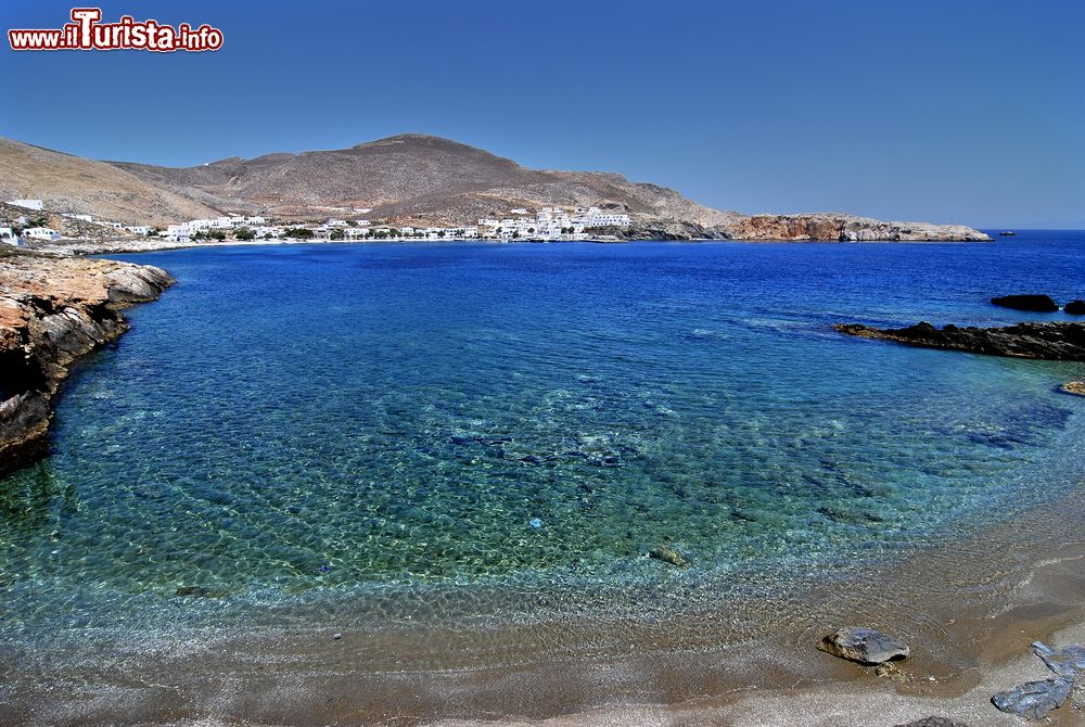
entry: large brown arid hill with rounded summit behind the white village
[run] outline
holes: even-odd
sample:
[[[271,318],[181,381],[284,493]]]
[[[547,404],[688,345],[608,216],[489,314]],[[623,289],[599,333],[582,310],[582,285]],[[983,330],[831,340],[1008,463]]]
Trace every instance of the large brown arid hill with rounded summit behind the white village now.
[[[621,175],[541,171],[447,139],[406,133],[350,149],[231,157],[199,167],[112,163],[157,187],[220,208],[320,218],[336,207],[380,219],[464,224],[510,208],[599,205],[714,226],[735,215]]]

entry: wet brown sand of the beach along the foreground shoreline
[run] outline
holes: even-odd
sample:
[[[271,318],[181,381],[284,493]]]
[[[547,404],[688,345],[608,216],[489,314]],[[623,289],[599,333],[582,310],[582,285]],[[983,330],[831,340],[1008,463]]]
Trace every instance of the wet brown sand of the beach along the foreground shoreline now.
[[[1085,643],[1078,501],[890,569],[807,583],[780,609],[728,599],[676,604],[673,618],[442,628],[330,612],[289,630],[102,633],[67,653],[8,645],[0,723],[1019,725],[990,698],[1050,676],[1029,645]],[[749,633],[751,623],[764,626]],[[907,679],[817,651],[847,624],[904,638]],[[1085,724],[1085,712],[1068,703],[1049,724]]]

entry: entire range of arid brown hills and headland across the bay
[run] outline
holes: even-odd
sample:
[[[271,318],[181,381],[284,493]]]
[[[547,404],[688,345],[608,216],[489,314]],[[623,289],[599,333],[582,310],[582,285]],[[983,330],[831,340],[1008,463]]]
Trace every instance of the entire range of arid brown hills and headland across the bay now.
[[[168,221],[229,212],[291,219],[366,217],[399,225],[455,226],[483,217],[507,217],[516,207],[598,206],[628,214],[633,227],[612,232],[635,239],[988,239],[966,227],[881,222],[842,214],[741,215],[713,209],[675,190],[631,182],[617,174],[529,169],[474,146],[418,133],[349,149],[266,154],[253,160],[230,157],[182,168],[91,162],[17,142],[5,144],[23,156],[12,162],[0,156],[0,173],[15,162],[37,165],[14,176],[28,180],[18,188],[17,196],[37,196],[73,207],[77,202],[80,207],[105,204],[94,214],[127,212],[129,217],[154,222],[167,212],[174,214]],[[53,166],[67,160],[80,171],[42,170],[42,156]],[[110,178],[102,167],[117,176]],[[80,177],[82,169],[93,180],[92,188],[65,181]],[[133,189],[137,184],[139,191]],[[123,208],[125,201],[127,211]],[[115,212],[118,207],[122,209]]]

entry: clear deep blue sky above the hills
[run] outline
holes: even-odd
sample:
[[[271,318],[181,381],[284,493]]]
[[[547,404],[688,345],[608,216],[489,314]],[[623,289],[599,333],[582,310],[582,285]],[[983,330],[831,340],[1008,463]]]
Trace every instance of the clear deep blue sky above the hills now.
[[[0,0],[3,29],[72,4]],[[0,51],[0,136],[191,165],[404,131],[742,212],[1085,228],[1085,2],[105,0],[216,53]],[[38,111],[42,107],[50,111]]]

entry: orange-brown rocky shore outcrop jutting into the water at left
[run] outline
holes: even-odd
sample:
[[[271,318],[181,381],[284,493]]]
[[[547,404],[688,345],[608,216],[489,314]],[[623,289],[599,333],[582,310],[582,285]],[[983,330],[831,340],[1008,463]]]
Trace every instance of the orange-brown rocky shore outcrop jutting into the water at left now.
[[[46,452],[72,361],[119,337],[128,330],[120,311],[173,282],[150,266],[0,254],[0,472]]]

